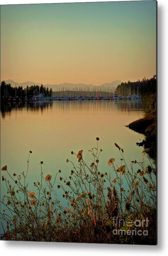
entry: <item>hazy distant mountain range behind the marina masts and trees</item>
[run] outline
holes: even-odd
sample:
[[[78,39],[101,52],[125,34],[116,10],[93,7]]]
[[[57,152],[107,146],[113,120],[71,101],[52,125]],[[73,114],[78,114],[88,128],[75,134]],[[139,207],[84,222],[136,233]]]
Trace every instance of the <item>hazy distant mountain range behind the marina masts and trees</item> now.
[[[31,82],[31,81],[27,81],[27,82],[24,82],[24,83],[18,83],[18,82],[15,82],[15,81],[9,79],[9,80],[6,80],[5,82],[6,82],[6,84],[10,83],[12,87],[15,87],[15,84],[16,84],[17,87],[22,86],[23,89],[26,88],[27,86],[31,86],[31,85],[34,85],[34,84],[41,86],[41,83],[35,83],[35,82]],[[119,85],[121,83],[122,83],[122,81],[115,80],[111,83],[104,83],[104,84],[97,85],[97,86],[98,87],[103,87],[104,86],[104,88],[108,87],[109,89],[111,89],[113,87],[117,87],[117,85]],[[78,88],[79,89],[80,87],[82,87],[82,88],[87,87],[89,90],[91,90],[94,87],[93,84],[83,84],[83,83],[79,83],[79,84],[74,84],[74,83],[43,84],[43,86],[46,86],[46,87],[48,86],[49,89],[52,88],[53,91],[57,91],[59,89],[61,90],[61,89],[63,89],[63,87],[64,87],[64,90],[65,89],[67,89],[67,90],[70,89],[71,90],[73,88]]]

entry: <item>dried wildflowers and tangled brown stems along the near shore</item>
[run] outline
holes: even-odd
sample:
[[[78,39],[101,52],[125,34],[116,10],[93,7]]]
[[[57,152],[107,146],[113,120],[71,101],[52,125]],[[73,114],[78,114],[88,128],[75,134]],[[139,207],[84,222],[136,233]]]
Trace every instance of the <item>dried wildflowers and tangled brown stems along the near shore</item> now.
[[[107,174],[99,170],[102,149],[98,149],[99,138],[96,141],[97,146],[89,150],[89,165],[83,150],[71,151],[78,164],[66,160],[72,168],[69,177],[63,177],[61,170],[55,177],[44,175],[41,161],[34,191],[27,184],[32,151],[26,173],[11,174],[6,165],[2,167],[7,194],[1,201],[1,218],[6,223],[1,239],[156,244],[156,170],[152,163],[145,166],[148,149],[142,152],[141,163],[135,160],[127,165],[123,149],[115,143],[121,165],[109,159]]]

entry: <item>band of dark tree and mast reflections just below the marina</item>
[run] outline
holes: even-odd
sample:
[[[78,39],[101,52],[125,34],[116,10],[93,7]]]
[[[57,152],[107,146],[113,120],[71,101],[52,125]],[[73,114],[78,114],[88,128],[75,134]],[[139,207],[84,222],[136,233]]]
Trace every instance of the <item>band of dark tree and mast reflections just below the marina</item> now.
[[[141,100],[113,100],[113,101],[37,101],[37,102],[19,102],[1,104],[1,118],[5,120],[11,116],[12,111],[21,112],[26,109],[27,112],[43,113],[44,111],[56,109],[59,112],[132,112],[142,111],[144,109]]]

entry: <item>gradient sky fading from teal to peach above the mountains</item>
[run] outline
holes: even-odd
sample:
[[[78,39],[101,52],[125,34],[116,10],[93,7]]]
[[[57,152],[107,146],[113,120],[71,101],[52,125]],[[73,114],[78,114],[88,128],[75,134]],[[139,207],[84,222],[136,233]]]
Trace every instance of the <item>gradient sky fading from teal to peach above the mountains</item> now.
[[[156,1],[0,7],[0,80],[100,85],[156,74]]]

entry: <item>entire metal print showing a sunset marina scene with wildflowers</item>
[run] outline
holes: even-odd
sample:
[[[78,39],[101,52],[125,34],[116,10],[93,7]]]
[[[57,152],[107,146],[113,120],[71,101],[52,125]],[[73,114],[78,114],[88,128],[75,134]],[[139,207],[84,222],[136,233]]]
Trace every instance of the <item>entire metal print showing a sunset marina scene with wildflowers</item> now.
[[[0,24],[1,240],[156,245],[157,1]]]

